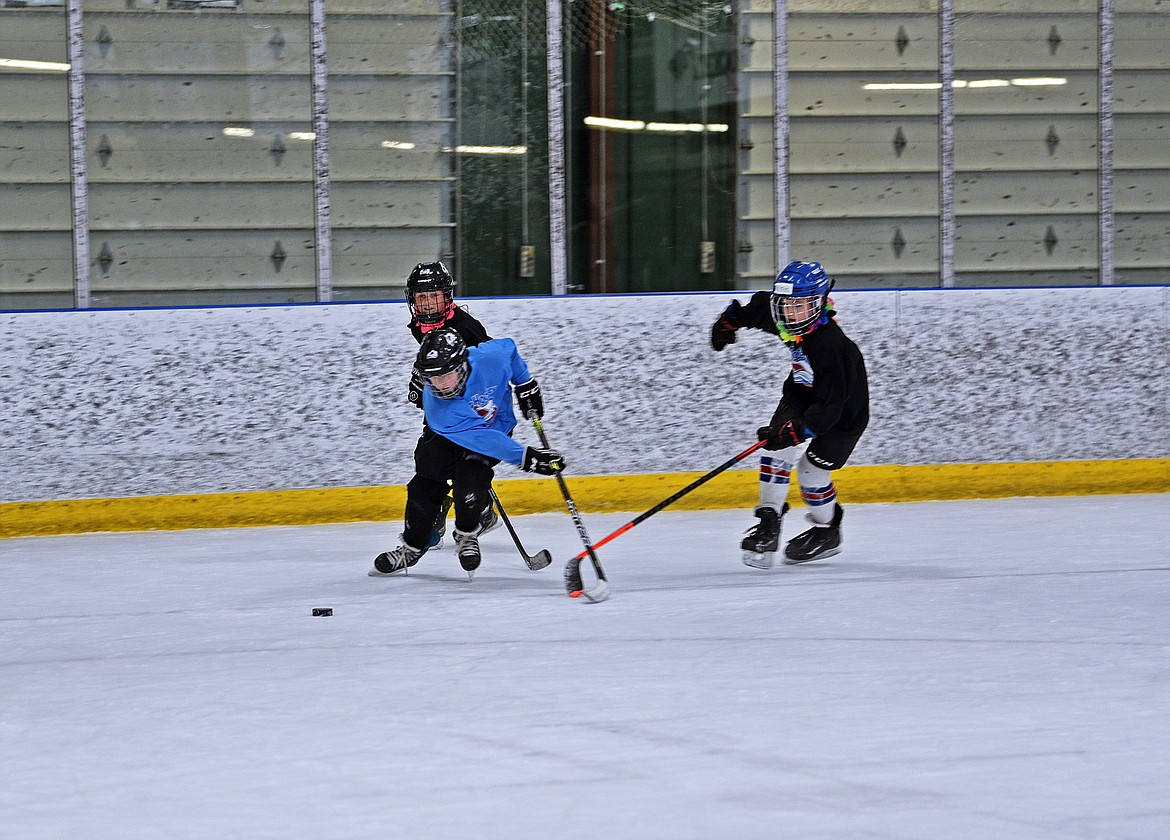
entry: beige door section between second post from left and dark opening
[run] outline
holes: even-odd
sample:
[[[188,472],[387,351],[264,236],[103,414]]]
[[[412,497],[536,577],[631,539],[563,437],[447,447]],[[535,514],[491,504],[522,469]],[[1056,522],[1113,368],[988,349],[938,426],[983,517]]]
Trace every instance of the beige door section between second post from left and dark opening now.
[[[420,262],[459,276],[453,9],[326,4],[335,301],[400,298]]]

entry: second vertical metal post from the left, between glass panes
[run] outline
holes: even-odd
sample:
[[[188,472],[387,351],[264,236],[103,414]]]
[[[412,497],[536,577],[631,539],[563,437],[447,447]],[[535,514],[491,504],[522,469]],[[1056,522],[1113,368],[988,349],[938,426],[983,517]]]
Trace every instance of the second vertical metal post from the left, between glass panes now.
[[[329,110],[326,106],[325,0],[309,0],[312,78],[312,194],[316,225],[317,299],[333,299],[333,220],[329,195]]]

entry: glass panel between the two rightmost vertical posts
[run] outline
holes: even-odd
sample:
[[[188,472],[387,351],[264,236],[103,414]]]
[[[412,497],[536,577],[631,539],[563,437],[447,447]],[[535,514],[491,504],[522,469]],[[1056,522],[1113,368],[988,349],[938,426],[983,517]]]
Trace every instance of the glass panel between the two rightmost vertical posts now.
[[[955,7],[955,283],[1094,284],[1096,9],[987,7]]]

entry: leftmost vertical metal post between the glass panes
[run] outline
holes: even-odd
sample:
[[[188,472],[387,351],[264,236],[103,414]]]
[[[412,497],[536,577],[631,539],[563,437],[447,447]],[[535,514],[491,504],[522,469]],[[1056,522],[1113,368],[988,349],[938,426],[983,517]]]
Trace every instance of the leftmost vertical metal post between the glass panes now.
[[[74,307],[89,309],[89,184],[85,163],[85,36],[82,0],[68,0],[69,184],[73,200]]]

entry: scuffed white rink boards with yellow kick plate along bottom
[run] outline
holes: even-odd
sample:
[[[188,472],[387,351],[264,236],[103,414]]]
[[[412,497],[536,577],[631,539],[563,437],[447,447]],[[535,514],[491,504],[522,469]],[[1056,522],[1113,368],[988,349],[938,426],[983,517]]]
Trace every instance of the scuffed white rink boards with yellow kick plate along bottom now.
[[[579,507],[640,511],[770,416],[783,345],[708,343],[749,294],[463,303],[542,383]],[[873,400],[844,502],[1170,491],[1170,287],[834,299]],[[406,322],[402,302],[0,312],[0,536],[400,518]],[[680,507],[749,507],[755,466]],[[497,477],[511,512],[563,508],[548,478]]]

